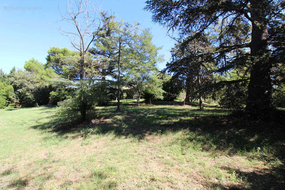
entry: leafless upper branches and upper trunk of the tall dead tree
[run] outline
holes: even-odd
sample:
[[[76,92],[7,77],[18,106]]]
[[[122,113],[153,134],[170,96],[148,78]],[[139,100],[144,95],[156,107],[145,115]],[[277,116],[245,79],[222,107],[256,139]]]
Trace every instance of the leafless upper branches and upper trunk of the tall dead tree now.
[[[59,12],[60,9],[58,8]],[[80,80],[85,79],[84,59],[86,52],[94,40],[100,35],[100,31],[107,23],[104,23],[100,7],[95,9],[94,5],[88,0],[68,0],[66,6],[66,13],[62,14],[61,21],[66,21],[72,24],[75,28],[74,31],[66,31],[58,28],[60,34],[68,36],[72,46],[78,50],[79,53],[79,68]]]

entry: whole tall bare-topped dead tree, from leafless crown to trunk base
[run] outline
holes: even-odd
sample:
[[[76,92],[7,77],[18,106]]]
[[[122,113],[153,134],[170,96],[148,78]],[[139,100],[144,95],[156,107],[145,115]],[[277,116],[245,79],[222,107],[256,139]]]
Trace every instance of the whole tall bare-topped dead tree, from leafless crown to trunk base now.
[[[99,14],[99,17],[97,17],[97,14]],[[88,49],[93,39],[95,39],[102,28],[104,28],[104,20],[101,19],[100,10],[96,10],[88,0],[68,0],[66,13],[64,15],[60,13],[60,15],[63,21],[74,26],[75,31],[66,31],[61,28],[58,30],[62,35],[72,38],[70,41],[72,46],[76,49],[78,56],[75,58],[61,57],[59,54],[52,54],[52,56],[61,59],[62,62],[67,62],[65,65],[70,64],[70,62],[76,63],[73,64],[73,66],[74,68],[79,68],[80,88],[82,88],[82,91],[86,91],[87,69],[89,66],[89,69],[91,69],[91,65],[94,61]],[[87,59],[89,61],[88,64],[86,64]],[[90,70],[90,73],[93,75],[92,70]],[[80,114],[81,120],[84,122],[86,120],[86,100],[84,100],[83,96],[79,99],[82,100]]]

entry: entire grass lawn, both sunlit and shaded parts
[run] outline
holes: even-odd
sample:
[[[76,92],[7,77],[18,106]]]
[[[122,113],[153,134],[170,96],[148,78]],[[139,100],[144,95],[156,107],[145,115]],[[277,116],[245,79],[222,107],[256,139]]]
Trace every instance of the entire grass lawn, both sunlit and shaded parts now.
[[[1,109],[0,189],[285,189],[284,118],[121,103],[69,129],[56,107]]]

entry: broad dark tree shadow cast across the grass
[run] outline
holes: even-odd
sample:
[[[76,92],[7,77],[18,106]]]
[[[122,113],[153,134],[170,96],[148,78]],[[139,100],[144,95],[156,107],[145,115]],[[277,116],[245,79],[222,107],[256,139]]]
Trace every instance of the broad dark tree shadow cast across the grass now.
[[[94,123],[66,127],[60,123],[60,118],[52,122],[32,126],[40,130],[56,132],[58,136],[74,133],[78,136],[89,134],[112,133],[115,136],[135,136],[139,139],[151,134],[183,131],[182,146],[196,146],[209,152],[212,156],[225,154],[228,156],[246,156],[249,160],[257,159],[275,164],[268,171],[241,172],[234,168],[224,168],[235,171],[240,179],[246,179],[246,186],[227,186],[220,183],[205,184],[212,189],[285,189],[284,184],[284,118],[265,122],[237,119],[224,109],[213,109],[205,106],[200,111],[179,106],[122,106],[121,112],[115,112],[115,107],[98,107],[91,119]],[[70,127],[71,126],[71,127]],[[175,143],[173,142],[173,143]]]

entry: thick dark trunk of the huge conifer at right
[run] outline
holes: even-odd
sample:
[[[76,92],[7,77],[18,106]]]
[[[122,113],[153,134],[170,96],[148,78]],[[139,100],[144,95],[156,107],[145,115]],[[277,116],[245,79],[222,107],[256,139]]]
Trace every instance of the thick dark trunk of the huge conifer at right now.
[[[268,35],[266,23],[266,2],[260,0],[251,1],[251,61],[253,67],[250,72],[248,85],[248,97],[246,110],[253,115],[264,115],[273,109],[272,105],[272,84],[270,78],[270,68],[272,67],[268,56]]]

